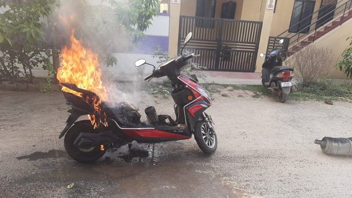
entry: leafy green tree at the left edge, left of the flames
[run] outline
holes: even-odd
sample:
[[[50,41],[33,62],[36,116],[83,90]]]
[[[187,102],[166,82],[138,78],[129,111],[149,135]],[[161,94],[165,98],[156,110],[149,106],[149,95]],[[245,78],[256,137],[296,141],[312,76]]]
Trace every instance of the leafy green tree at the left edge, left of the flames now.
[[[51,52],[44,39],[41,19],[55,0],[0,0],[0,74],[14,82],[20,73],[33,82],[34,67],[51,68]],[[23,72],[17,65],[23,66]]]

